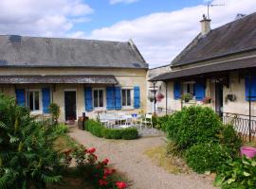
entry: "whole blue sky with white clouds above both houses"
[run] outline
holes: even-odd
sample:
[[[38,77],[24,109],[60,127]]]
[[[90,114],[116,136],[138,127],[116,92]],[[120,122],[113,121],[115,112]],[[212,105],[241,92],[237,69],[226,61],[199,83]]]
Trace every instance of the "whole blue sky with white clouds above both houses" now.
[[[223,5],[210,8],[212,29],[256,11],[256,0],[1,0],[0,34],[132,39],[153,68],[195,38],[209,3]]]

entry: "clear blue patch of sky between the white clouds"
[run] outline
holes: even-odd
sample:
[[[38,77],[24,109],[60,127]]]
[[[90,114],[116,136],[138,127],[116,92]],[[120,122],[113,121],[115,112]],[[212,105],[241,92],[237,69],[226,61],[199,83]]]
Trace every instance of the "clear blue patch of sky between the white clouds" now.
[[[156,3],[157,2],[157,3]],[[121,20],[133,20],[137,17],[148,15],[154,12],[166,12],[176,9],[196,6],[204,3],[203,0],[140,0],[135,3],[117,3],[111,5],[109,0],[87,0],[84,1],[94,13],[89,16],[90,22],[79,24],[73,30],[82,29],[89,33],[91,30],[111,26]]]

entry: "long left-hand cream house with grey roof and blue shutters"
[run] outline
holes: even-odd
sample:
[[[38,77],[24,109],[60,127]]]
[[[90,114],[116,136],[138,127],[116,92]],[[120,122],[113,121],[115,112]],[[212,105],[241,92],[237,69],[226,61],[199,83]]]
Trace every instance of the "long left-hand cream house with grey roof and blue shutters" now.
[[[144,110],[147,70],[132,41],[0,36],[0,90],[33,115],[50,103],[61,121]]]

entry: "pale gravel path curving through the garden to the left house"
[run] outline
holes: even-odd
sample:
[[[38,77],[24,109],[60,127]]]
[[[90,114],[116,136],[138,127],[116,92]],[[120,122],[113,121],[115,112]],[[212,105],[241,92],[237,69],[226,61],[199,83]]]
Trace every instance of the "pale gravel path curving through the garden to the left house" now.
[[[133,181],[133,189],[211,189],[212,180],[198,175],[174,175],[155,165],[143,152],[164,145],[163,137],[116,141],[97,138],[89,132],[71,128],[69,135],[80,144],[96,147],[96,154],[109,158],[120,172]]]

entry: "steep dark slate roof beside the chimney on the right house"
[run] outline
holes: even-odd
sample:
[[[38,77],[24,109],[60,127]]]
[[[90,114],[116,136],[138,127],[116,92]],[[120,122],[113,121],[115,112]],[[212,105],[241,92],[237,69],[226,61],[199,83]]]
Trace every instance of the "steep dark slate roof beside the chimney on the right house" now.
[[[256,48],[256,12],[198,35],[171,63],[180,66]]]

